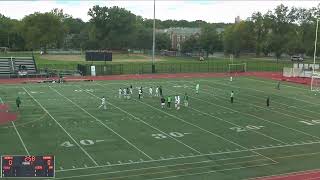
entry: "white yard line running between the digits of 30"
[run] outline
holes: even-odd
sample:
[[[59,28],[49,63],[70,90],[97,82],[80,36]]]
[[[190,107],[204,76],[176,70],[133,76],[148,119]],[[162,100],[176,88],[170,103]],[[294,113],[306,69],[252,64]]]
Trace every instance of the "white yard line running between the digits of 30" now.
[[[101,84],[98,84],[98,83],[96,83],[96,84],[97,84],[97,85],[99,85],[99,86],[101,86],[101,87],[104,87],[104,86],[103,86],[103,85],[101,85]],[[100,99],[98,96],[96,96],[96,95],[94,95],[94,94],[92,94],[92,93],[90,93],[90,92],[87,92],[87,91],[86,91],[86,93],[88,93],[88,94],[90,94],[90,95],[92,95],[92,96],[94,96],[94,97],[96,97],[96,98]],[[174,141],[176,141],[176,142],[178,142],[178,143],[180,143],[180,144],[182,144],[182,145],[186,146],[186,147],[187,147],[187,148],[189,148],[190,150],[192,150],[192,151],[194,151],[194,152],[196,152],[196,153],[198,153],[198,154],[201,154],[201,152],[200,152],[199,150],[197,150],[197,149],[195,149],[195,148],[193,148],[193,147],[191,147],[191,146],[189,146],[189,145],[187,145],[187,144],[183,143],[182,141],[180,141],[180,140],[176,139],[175,137],[173,137],[173,136],[171,136],[171,135],[169,135],[169,134],[165,133],[164,131],[160,130],[159,128],[156,128],[156,127],[152,126],[151,124],[149,124],[149,123],[147,123],[147,122],[143,121],[142,119],[140,119],[140,118],[138,118],[138,117],[134,116],[133,114],[129,113],[128,111],[126,111],[126,110],[124,110],[124,109],[122,109],[122,108],[120,108],[120,107],[118,107],[118,106],[116,106],[116,105],[114,105],[114,104],[112,104],[112,103],[110,103],[110,102],[108,102],[108,101],[107,101],[107,103],[108,103],[108,104],[110,104],[111,106],[115,107],[116,109],[118,109],[118,110],[120,110],[120,111],[124,112],[125,114],[127,114],[127,115],[129,115],[129,116],[133,117],[134,119],[136,119],[136,120],[138,120],[138,121],[142,122],[143,124],[145,124],[145,125],[147,125],[147,126],[151,127],[152,129],[154,129],[154,130],[156,130],[156,131],[161,132],[162,134],[164,134],[164,135],[168,136],[169,138],[173,139]]]

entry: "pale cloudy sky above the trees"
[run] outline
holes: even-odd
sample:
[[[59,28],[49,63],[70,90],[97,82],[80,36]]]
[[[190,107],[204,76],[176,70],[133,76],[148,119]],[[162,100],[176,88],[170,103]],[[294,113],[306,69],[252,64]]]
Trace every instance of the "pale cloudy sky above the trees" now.
[[[241,19],[250,17],[253,12],[262,13],[273,10],[277,5],[284,4],[292,7],[317,7],[319,1],[222,1],[222,0],[156,0],[156,18],[161,20],[203,20],[210,23],[232,23],[236,16]],[[153,0],[29,0],[29,1],[0,1],[0,13],[13,18],[22,19],[25,15],[34,12],[48,12],[53,8],[63,9],[74,18],[88,21],[89,8],[94,5],[123,7],[143,18],[153,18]]]

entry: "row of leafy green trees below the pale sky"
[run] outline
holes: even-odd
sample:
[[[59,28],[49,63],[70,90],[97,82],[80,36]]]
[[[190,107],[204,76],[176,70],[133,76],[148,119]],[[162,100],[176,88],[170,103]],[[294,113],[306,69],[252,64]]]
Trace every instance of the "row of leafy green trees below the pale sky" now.
[[[93,6],[90,20],[73,18],[61,9],[25,16],[22,20],[0,14],[0,47],[12,50],[32,49],[151,49],[152,19],[114,7]],[[284,5],[262,14],[254,12],[240,23],[208,23],[202,20],[156,20],[157,29],[199,27],[200,35],[186,39],[182,52],[206,54],[224,51],[238,57],[241,53],[257,56],[305,54],[312,56],[318,7],[289,8]],[[222,33],[218,28],[223,28]],[[318,43],[319,44],[319,43]],[[320,44],[318,45],[320,54]],[[156,49],[171,49],[168,34],[157,33]]]

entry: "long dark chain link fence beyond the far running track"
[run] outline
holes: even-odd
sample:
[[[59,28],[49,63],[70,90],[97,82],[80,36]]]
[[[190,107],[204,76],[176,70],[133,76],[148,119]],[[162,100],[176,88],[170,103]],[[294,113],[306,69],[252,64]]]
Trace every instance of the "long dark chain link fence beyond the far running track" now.
[[[183,63],[158,63],[155,65],[155,73],[197,73],[197,72],[228,72],[229,62],[183,62]],[[281,72],[283,67],[291,66],[291,63],[275,62],[247,62],[247,71],[273,71]],[[78,64],[77,69],[82,75],[91,75],[91,65]],[[151,63],[105,64],[95,65],[96,75],[119,74],[151,74]]]

